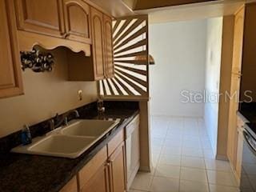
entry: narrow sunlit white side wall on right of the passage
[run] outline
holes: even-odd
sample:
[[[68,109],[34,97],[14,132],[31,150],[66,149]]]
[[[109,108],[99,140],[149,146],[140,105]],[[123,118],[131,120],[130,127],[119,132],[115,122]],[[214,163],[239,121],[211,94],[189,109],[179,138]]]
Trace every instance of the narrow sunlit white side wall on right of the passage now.
[[[219,79],[222,52],[222,18],[210,18],[207,22],[206,41],[206,91],[219,93]],[[214,97],[211,97],[214,98]],[[217,151],[218,136],[218,102],[206,102],[204,119],[210,142]]]

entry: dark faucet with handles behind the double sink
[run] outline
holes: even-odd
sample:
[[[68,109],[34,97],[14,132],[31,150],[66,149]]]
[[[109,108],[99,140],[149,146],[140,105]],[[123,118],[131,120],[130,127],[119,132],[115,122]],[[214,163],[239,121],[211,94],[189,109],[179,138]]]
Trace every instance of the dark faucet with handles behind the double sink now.
[[[68,125],[68,117],[70,114],[74,113],[75,118],[79,118],[80,115],[78,113],[78,110],[69,110],[66,112],[66,114],[62,114],[60,117],[58,114],[54,118],[51,118],[48,122],[50,125],[50,130],[56,129],[58,126],[67,126]]]

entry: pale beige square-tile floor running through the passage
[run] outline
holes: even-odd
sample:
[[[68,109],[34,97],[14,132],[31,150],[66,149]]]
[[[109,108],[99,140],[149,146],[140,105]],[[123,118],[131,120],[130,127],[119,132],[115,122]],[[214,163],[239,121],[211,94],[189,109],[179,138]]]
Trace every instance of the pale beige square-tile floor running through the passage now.
[[[200,118],[151,118],[153,170],[129,192],[238,192],[228,162],[214,159]]]

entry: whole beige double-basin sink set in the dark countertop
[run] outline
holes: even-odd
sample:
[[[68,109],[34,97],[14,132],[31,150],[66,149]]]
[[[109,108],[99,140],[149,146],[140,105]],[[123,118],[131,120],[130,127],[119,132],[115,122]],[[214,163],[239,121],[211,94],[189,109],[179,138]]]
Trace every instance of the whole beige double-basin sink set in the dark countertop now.
[[[34,138],[27,146],[17,146],[11,151],[22,154],[39,154],[62,158],[78,158],[117,126],[118,121],[73,120],[46,136]]]

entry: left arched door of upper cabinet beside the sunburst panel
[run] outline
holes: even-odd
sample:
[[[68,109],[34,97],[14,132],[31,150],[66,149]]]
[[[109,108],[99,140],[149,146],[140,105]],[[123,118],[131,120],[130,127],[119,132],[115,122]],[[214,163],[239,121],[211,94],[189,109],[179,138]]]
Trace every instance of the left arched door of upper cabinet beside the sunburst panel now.
[[[103,14],[90,8],[92,38],[93,38],[93,57],[94,57],[94,77],[99,80],[105,77],[104,73],[104,40],[103,40]]]

